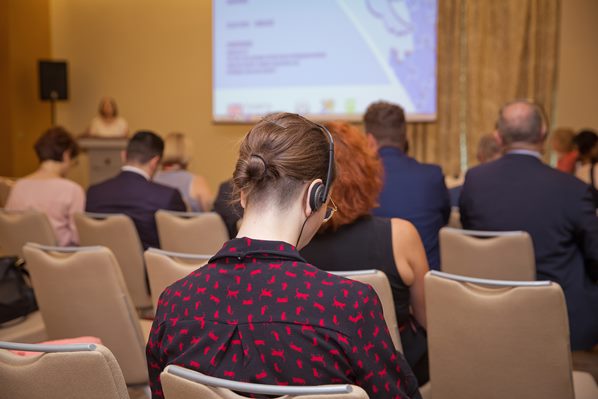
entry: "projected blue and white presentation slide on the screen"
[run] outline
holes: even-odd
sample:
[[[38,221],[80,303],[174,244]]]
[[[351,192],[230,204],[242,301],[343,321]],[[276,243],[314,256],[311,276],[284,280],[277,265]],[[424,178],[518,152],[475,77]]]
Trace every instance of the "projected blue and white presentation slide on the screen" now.
[[[214,0],[213,118],[351,121],[386,100],[433,120],[436,21],[437,0]]]

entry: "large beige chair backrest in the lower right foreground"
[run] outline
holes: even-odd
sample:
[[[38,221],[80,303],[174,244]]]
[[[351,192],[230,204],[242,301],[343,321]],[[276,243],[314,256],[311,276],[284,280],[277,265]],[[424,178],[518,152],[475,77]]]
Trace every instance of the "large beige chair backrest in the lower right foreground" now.
[[[565,298],[549,281],[425,277],[434,399],[572,399]]]

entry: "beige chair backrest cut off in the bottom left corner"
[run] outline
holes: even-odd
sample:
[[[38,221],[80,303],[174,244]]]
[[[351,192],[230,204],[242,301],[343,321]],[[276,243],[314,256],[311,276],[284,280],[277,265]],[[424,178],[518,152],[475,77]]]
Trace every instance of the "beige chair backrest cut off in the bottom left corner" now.
[[[24,357],[9,350],[42,353]],[[0,342],[0,381],[2,398],[129,398],[116,359],[108,348],[95,344],[35,345]]]

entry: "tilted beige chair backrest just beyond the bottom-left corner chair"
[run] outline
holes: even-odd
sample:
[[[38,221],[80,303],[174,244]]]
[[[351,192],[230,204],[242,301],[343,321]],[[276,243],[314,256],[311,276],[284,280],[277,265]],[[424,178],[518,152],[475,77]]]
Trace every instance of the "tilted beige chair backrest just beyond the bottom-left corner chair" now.
[[[127,384],[147,383],[145,337],[112,252],[36,244],[23,252],[48,337],[98,337],[114,353]]]

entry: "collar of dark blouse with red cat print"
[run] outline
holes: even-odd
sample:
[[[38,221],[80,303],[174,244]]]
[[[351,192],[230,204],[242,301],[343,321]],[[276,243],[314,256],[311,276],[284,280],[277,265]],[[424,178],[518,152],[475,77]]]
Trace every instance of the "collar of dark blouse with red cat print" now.
[[[226,258],[241,261],[243,258],[281,259],[307,263],[297,249],[283,241],[254,240],[251,238],[234,238],[224,243],[220,251],[210,259],[210,263]]]

